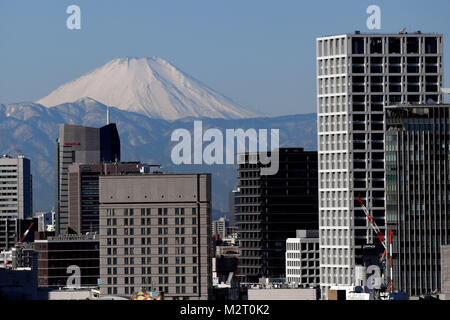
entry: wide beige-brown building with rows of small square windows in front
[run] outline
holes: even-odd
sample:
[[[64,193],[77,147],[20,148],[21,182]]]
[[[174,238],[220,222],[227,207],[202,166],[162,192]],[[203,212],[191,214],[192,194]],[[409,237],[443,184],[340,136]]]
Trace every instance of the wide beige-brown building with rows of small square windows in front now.
[[[210,174],[101,176],[101,294],[208,299],[211,222]]]

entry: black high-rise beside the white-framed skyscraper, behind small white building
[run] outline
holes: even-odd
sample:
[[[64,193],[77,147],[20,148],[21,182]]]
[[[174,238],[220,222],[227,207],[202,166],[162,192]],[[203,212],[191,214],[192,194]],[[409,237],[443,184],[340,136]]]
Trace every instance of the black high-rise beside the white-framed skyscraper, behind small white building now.
[[[242,154],[236,225],[241,283],[285,277],[286,239],[296,230],[318,229],[317,152],[280,148],[279,170],[261,175],[264,166]]]

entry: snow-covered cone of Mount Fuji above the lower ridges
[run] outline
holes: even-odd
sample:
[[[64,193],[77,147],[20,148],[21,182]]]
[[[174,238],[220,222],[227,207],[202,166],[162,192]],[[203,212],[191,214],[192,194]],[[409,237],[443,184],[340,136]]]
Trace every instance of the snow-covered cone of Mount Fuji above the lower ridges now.
[[[262,115],[239,106],[159,57],[111,60],[36,103],[54,107],[82,98],[154,119],[243,119]]]

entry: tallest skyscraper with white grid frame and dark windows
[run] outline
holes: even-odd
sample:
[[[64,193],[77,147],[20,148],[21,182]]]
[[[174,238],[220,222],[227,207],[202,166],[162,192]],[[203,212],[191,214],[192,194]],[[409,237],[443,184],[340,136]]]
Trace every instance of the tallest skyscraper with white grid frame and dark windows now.
[[[356,196],[384,230],[383,106],[440,103],[442,35],[345,34],[317,39],[322,292],[353,284],[378,239]]]

